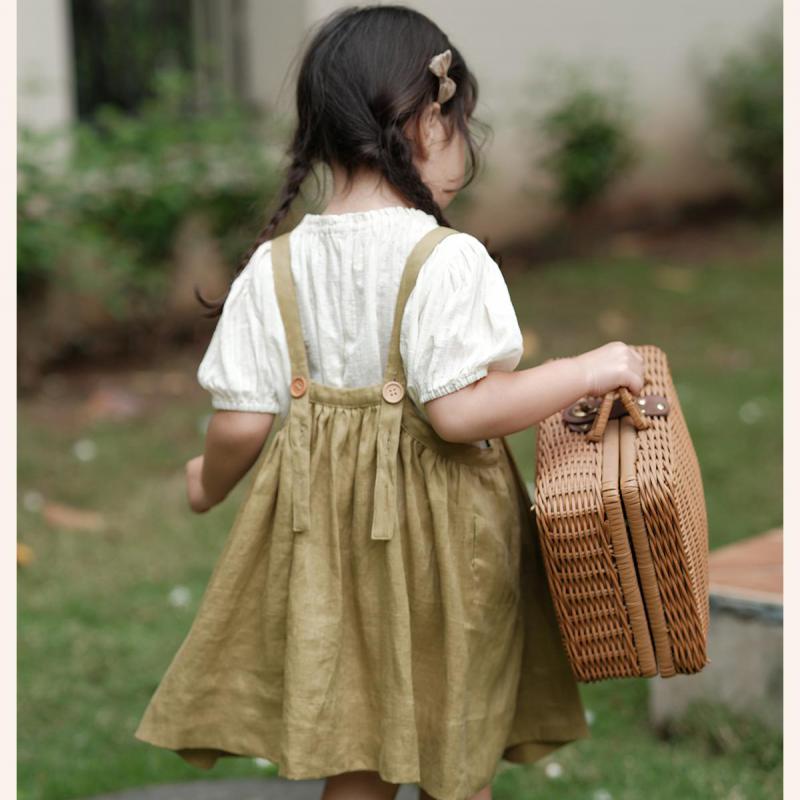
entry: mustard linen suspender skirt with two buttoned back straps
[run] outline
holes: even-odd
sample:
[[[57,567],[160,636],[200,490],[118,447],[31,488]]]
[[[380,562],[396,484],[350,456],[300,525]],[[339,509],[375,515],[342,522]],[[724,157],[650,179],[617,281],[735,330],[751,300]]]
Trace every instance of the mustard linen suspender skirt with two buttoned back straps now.
[[[501,758],[587,737],[531,500],[506,440],[443,440],[405,387],[400,325],[438,227],[406,262],[384,381],[312,380],[272,243],[291,406],[252,470],[197,616],[135,731],[211,768],[375,770],[465,800]]]

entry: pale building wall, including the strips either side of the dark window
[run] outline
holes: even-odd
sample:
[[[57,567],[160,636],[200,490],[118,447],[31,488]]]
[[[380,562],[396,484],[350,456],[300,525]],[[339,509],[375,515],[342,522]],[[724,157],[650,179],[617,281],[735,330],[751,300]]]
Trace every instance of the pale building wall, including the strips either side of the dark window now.
[[[188,0],[187,0],[188,2]],[[219,0],[225,3],[225,0]],[[291,111],[299,51],[311,26],[347,3],[338,0],[242,0],[245,91]],[[419,0],[464,53],[481,89],[477,114],[494,129],[483,172],[470,187],[465,227],[502,240],[552,213],[545,176],[532,166],[536,135],[526,120],[539,109],[531,85],[551,61],[618,69],[638,109],[643,160],[609,197],[608,207],[668,205],[702,197],[730,181],[715,166],[693,64],[743,42],[780,6],[775,0]],[[18,4],[19,118],[46,127],[74,115],[66,0]]]

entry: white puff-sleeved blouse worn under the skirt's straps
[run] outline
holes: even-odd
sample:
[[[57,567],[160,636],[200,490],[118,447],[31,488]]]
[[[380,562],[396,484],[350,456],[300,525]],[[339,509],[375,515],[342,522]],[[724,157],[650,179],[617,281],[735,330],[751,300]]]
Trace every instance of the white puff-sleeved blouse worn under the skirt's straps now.
[[[292,275],[310,376],[350,387],[383,380],[400,277],[431,214],[389,206],[306,214],[291,231]],[[234,279],[197,379],[216,409],[288,414],[291,366],[275,296],[271,242]],[[400,352],[412,401],[515,369],[522,334],[500,268],[459,232],[439,242],[406,303]]]

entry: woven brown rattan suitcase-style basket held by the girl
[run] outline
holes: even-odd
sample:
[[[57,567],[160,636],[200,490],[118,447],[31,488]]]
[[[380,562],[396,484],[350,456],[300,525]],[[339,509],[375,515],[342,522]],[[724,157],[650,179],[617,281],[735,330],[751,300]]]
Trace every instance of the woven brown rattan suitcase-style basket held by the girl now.
[[[665,353],[626,387],[539,425],[534,508],[579,681],[669,677],[710,663],[708,524],[700,466]],[[618,395],[618,397],[617,397]]]

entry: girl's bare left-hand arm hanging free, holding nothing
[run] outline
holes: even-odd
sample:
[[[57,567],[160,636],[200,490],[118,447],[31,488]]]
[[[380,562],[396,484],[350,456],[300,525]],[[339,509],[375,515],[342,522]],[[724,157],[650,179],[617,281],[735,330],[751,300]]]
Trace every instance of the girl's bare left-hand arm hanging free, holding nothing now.
[[[274,414],[256,411],[214,412],[203,455],[186,463],[192,511],[208,511],[228,496],[258,459],[274,418]]]

